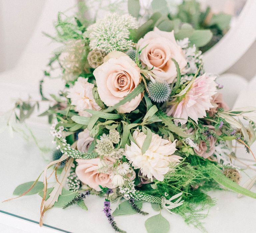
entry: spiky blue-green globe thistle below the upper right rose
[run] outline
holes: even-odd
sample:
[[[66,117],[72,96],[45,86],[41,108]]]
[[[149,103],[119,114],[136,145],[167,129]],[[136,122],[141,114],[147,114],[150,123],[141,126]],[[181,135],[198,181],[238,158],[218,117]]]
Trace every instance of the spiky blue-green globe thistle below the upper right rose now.
[[[163,81],[162,83],[157,82],[153,79],[148,84],[149,98],[156,103],[163,103],[169,99],[171,94],[170,85]]]

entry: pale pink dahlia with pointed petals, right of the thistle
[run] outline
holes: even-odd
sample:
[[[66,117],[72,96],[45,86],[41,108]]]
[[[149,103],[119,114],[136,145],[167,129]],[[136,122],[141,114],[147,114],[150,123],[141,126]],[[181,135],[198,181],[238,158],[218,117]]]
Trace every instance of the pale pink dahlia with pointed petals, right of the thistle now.
[[[183,99],[180,102],[178,98],[176,99],[177,102],[167,112],[167,115],[179,118],[176,121],[181,124],[185,124],[188,117],[198,123],[198,118],[206,116],[206,110],[209,111],[214,107],[211,104],[213,95],[217,93],[217,84],[214,80],[215,77],[206,77],[206,74],[196,78]]]

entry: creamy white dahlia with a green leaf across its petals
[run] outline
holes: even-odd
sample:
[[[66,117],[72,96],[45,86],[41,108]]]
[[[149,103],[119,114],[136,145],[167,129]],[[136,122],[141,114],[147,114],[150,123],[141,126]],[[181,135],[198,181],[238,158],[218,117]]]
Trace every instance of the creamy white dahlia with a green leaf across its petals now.
[[[125,146],[126,158],[135,169],[139,168],[142,174],[151,180],[155,177],[157,180],[163,181],[164,175],[180,162],[179,159],[182,159],[180,156],[173,155],[177,150],[175,148],[176,140],[170,142],[153,133],[149,148],[142,154],[141,148],[146,134],[135,130],[133,138],[136,143],[131,141],[130,146],[128,144]]]

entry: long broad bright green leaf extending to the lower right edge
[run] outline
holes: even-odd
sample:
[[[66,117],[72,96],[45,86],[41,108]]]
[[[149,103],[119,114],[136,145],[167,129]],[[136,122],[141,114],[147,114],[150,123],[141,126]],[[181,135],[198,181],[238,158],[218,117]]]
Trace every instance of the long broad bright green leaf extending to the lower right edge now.
[[[243,194],[245,196],[252,197],[252,198],[256,199],[256,193],[254,193],[246,188],[241,187],[239,184],[237,184],[234,181],[232,181],[231,179],[227,178],[221,172],[221,170],[218,167],[216,167],[214,164],[209,163],[207,165],[207,168],[208,168],[208,172],[207,172],[208,175],[211,178],[213,178],[216,182],[218,182],[219,184],[223,185],[224,187],[226,187],[234,192],[237,192],[237,193]]]

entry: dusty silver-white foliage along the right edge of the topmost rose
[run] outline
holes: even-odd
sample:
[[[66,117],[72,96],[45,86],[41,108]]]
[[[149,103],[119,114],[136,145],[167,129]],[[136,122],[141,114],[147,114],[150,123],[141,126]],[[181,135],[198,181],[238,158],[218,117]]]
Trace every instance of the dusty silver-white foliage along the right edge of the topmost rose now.
[[[202,63],[202,52],[197,50],[195,45],[189,47],[189,42],[188,38],[177,40],[177,44],[182,48],[186,61],[188,62],[182,72],[182,83],[190,81],[193,78],[193,74],[196,74],[200,64]]]

